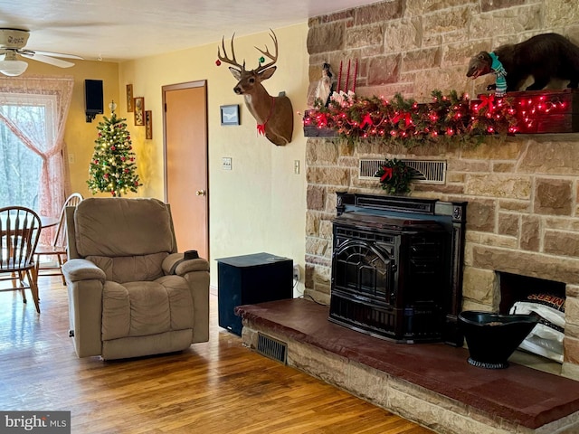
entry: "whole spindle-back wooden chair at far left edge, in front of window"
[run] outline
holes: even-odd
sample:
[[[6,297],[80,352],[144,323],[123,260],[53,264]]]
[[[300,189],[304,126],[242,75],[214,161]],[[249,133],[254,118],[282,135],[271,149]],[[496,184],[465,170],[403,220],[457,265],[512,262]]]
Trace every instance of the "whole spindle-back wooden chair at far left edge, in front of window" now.
[[[0,280],[18,283],[0,291],[22,292],[30,288],[36,312],[40,314],[38,286],[34,278],[34,249],[38,244],[42,225],[36,212],[24,206],[0,208]]]

